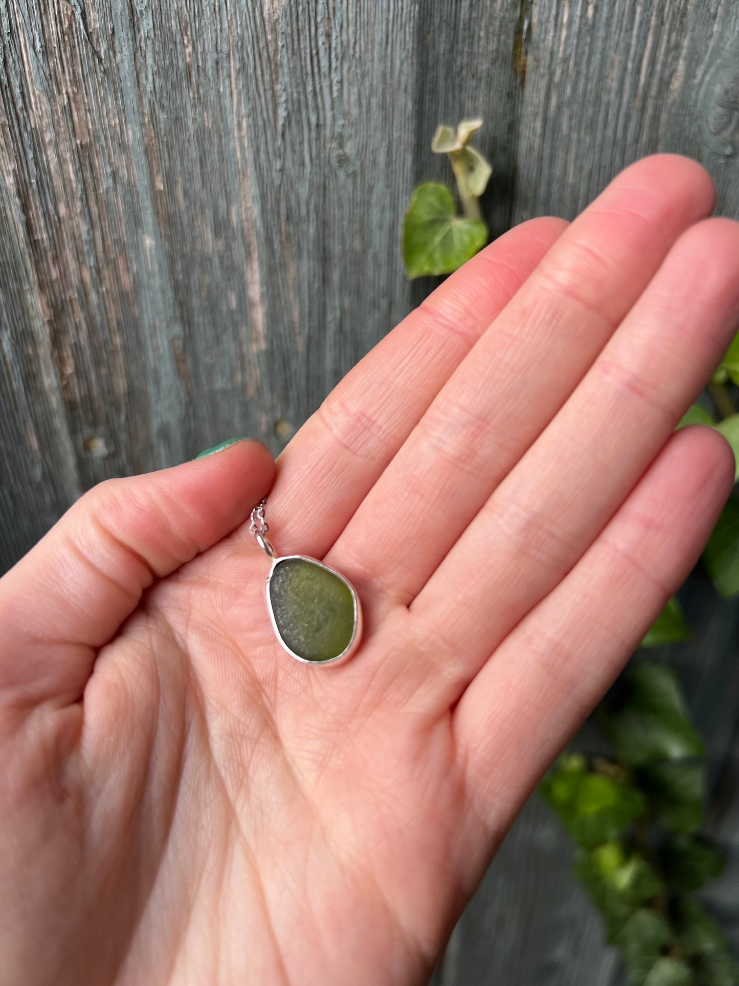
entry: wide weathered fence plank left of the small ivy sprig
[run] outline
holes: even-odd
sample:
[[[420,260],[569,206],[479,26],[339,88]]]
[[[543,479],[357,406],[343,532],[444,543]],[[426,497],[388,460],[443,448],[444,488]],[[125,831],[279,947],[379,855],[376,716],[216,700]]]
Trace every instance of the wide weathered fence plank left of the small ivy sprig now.
[[[34,311],[61,394],[0,395],[7,567],[106,476],[239,433],[277,451],[274,423],[300,425],[408,310],[417,17],[55,0],[2,19],[5,358],[18,377]]]

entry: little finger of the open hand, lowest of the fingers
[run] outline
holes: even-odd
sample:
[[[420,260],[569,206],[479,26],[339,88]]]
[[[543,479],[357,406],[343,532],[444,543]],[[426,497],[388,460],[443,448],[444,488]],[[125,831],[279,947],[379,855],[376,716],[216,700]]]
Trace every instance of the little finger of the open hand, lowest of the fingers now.
[[[688,575],[733,479],[718,434],[677,432],[462,696],[453,728],[467,792],[496,840]]]

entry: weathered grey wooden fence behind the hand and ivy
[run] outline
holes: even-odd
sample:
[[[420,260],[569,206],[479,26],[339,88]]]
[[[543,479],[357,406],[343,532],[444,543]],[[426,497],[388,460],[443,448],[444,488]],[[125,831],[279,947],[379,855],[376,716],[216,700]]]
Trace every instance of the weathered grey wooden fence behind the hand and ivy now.
[[[735,0],[2,0],[0,30],[0,570],[105,477],[279,452],[430,288],[398,231],[438,122],[485,119],[494,235],[657,150],[739,217]],[[739,941],[739,613],[700,575],[686,604]],[[437,983],[621,983],[570,853],[532,801]]]

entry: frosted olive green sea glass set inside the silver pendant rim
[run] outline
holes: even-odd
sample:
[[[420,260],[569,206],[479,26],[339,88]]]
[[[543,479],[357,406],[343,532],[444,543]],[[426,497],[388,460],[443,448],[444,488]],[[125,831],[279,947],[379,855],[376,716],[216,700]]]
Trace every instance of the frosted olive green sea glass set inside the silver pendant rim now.
[[[281,558],[272,570],[269,599],[280,637],[303,661],[331,661],[351,644],[354,597],[334,572],[307,558]]]

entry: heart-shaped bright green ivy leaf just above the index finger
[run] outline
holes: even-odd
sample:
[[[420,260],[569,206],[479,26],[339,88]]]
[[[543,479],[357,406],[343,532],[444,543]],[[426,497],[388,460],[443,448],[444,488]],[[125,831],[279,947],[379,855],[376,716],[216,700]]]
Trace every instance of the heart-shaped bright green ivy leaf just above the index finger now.
[[[487,239],[485,223],[459,218],[446,185],[426,181],[416,186],[403,218],[403,258],[411,280],[456,270]]]

